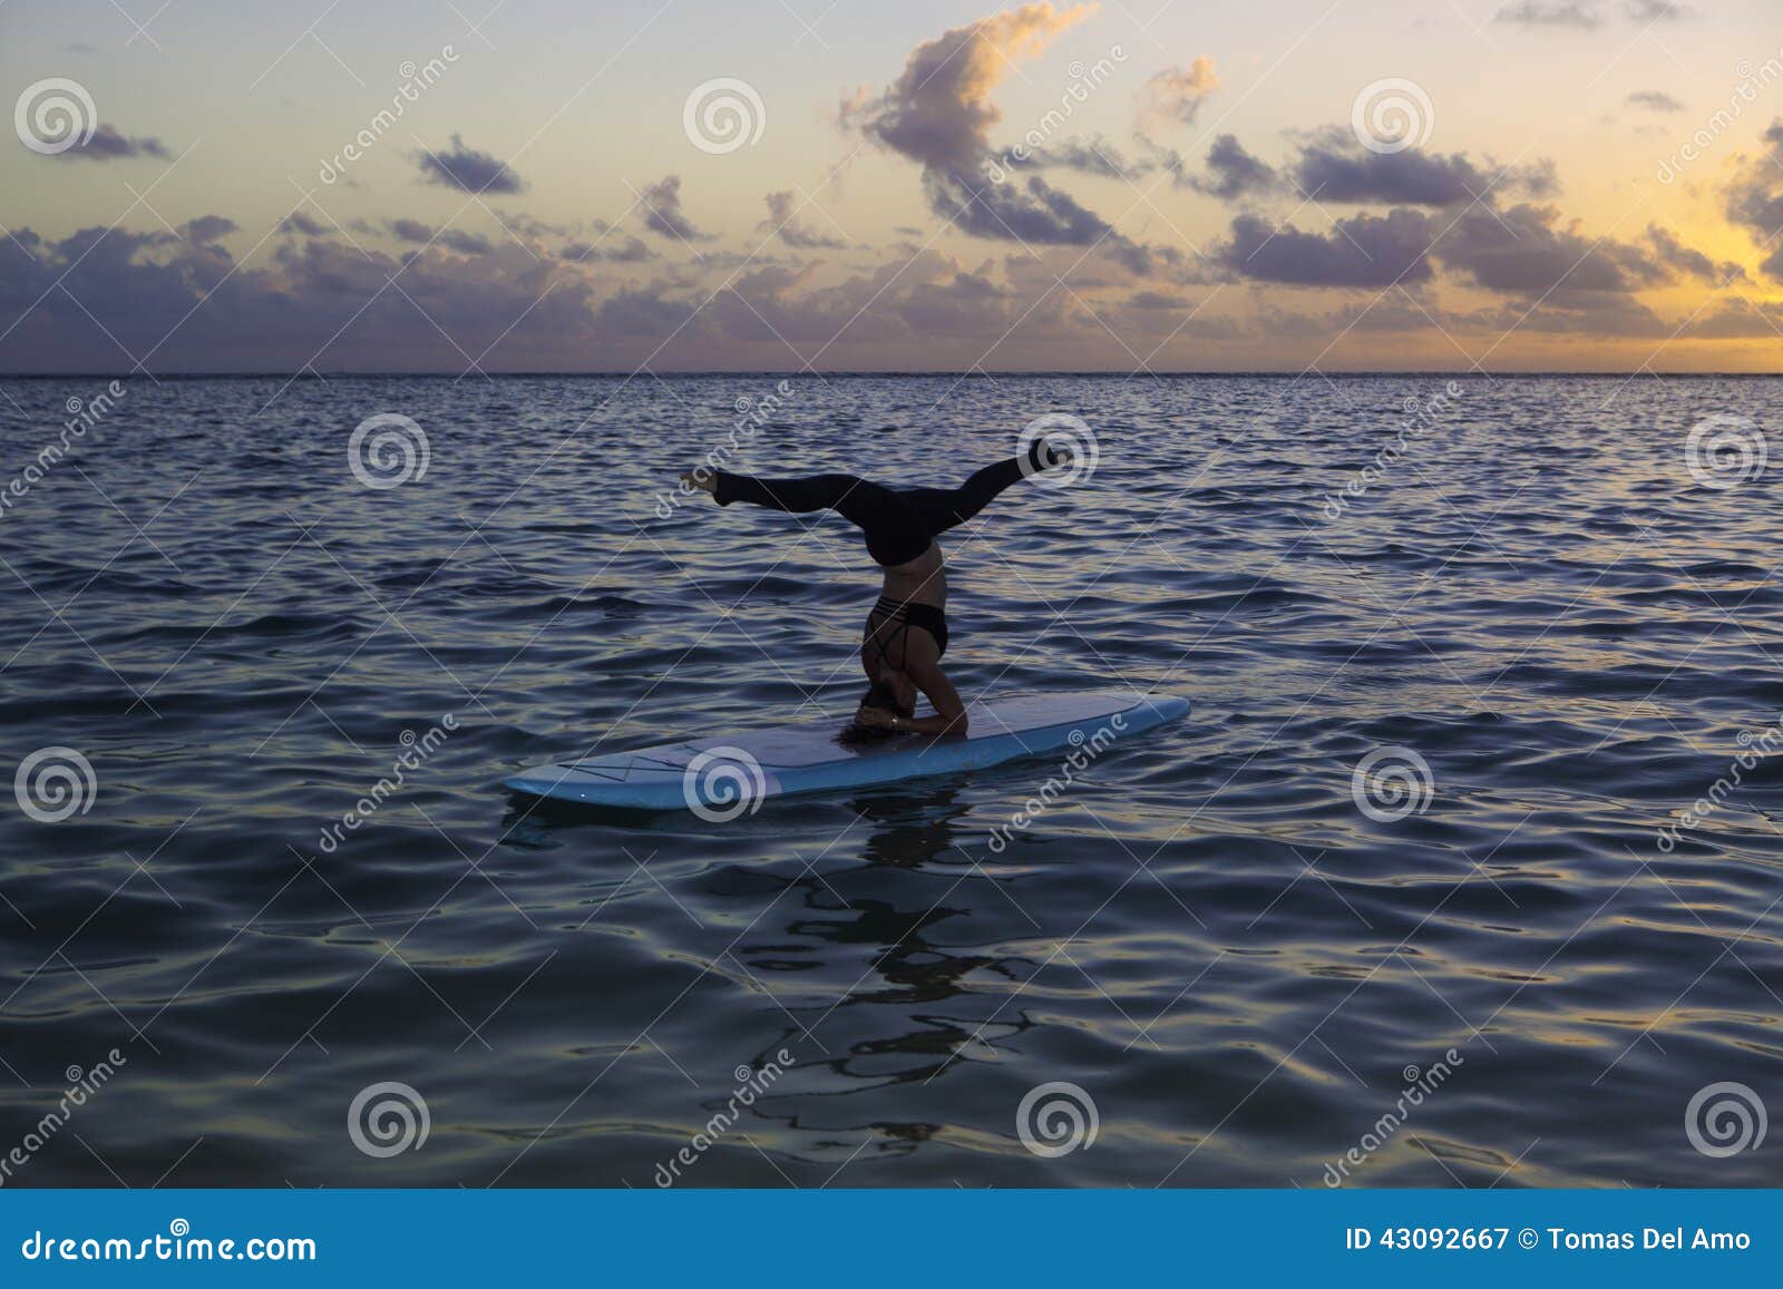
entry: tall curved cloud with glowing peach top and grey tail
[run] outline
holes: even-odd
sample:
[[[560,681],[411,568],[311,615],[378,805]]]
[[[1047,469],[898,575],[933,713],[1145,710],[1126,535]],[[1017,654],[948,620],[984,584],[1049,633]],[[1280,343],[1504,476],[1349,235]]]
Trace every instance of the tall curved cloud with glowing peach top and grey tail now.
[[[845,103],[843,123],[922,166],[929,209],[961,232],[1034,246],[1105,239],[1134,271],[1143,271],[1146,251],[1068,193],[1038,175],[1025,184],[991,178],[1007,173],[991,155],[991,132],[1002,121],[991,91],[1016,61],[1039,55],[1059,32],[1093,12],[1089,4],[1063,11],[1029,4],[954,27],[918,45],[883,94]]]

